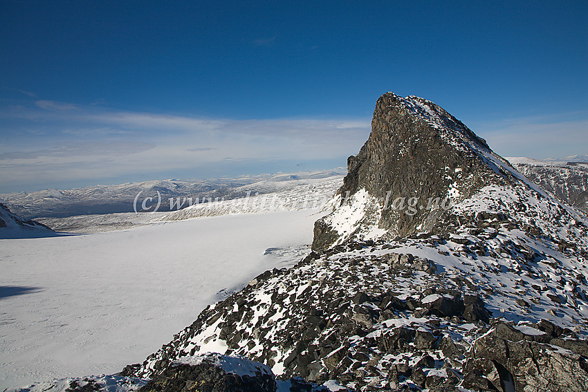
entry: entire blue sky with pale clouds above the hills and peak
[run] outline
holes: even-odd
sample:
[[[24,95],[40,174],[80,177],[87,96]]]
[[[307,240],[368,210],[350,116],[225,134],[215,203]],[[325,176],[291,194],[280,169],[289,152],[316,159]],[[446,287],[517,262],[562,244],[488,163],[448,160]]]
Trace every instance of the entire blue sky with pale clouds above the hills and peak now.
[[[585,1],[3,0],[0,42],[0,192],[344,166],[386,91],[588,153]]]

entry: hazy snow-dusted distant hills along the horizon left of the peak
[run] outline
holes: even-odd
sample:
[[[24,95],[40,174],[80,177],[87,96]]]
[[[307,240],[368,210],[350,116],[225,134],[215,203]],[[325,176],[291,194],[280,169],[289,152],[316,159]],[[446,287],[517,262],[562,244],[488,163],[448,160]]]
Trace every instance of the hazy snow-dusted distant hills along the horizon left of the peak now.
[[[88,214],[134,212],[134,201],[160,197],[159,211],[173,211],[177,205],[169,199],[230,200],[266,194],[298,185],[308,185],[324,178],[344,176],[343,171],[304,171],[295,174],[268,174],[218,178],[213,180],[153,180],[121,185],[98,185],[80,189],[46,189],[37,192],[0,194],[0,201],[27,218],[66,217]]]

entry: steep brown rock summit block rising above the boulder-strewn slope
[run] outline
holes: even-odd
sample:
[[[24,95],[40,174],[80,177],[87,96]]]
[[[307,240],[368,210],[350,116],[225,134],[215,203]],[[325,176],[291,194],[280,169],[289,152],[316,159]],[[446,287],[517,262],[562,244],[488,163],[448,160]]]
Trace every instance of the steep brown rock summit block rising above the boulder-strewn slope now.
[[[508,165],[486,141],[436,104],[386,93],[376,102],[371,134],[340,188],[339,209],[315,224],[314,250],[348,239],[443,232],[448,206],[481,187],[508,183]],[[335,214],[337,215],[337,214]],[[339,214],[340,215],[340,214]]]

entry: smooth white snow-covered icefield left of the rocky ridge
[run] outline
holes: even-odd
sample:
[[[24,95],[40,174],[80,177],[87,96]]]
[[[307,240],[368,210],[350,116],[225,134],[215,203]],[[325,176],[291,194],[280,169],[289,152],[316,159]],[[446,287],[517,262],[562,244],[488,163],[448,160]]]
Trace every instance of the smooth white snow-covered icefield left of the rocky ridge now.
[[[257,274],[302,259],[317,209],[0,240],[0,391],[118,373]]]

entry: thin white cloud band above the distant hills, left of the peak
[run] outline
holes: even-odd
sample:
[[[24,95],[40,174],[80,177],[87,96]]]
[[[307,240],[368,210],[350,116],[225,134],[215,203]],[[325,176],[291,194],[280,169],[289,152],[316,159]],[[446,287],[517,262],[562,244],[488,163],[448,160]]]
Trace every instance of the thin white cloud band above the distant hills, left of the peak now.
[[[246,167],[275,172],[317,160],[337,167],[369,135],[367,118],[230,120],[48,102],[0,113],[6,122],[48,133],[41,139],[19,133],[0,146],[0,184],[9,191],[48,180],[59,187],[65,179],[201,178],[245,174]]]

